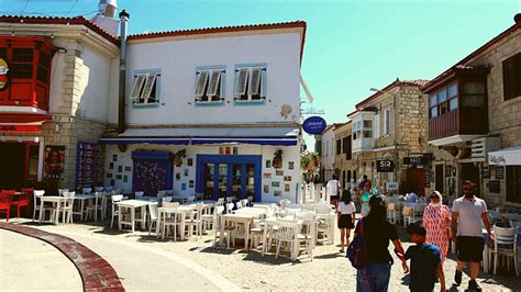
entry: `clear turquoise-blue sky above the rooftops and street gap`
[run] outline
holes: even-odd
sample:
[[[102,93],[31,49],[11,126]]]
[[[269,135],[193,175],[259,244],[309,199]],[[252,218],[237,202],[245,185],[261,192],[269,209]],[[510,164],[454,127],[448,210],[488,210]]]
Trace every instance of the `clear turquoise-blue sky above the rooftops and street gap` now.
[[[97,0],[0,0],[0,14],[87,14]],[[432,79],[513,24],[519,0],[119,0],[131,33],[308,23],[302,75],[328,123],[400,79]],[[151,4],[153,3],[153,4]],[[303,96],[302,96],[303,97]],[[304,108],[310,104],[303,104]],[[311,142],[311,139],[307,139]],[[308,143],[311,144],[311,143]],[[311,146],[311,145],[309,145]]]

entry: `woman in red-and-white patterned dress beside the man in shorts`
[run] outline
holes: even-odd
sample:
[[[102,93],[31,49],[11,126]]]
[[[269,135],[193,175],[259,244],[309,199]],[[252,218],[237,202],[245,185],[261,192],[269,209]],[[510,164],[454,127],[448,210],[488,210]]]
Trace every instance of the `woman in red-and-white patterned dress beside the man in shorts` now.
[[[433,191],[430,196],[431,203],[423,211],[423,226],[426,229],[426,243],[437,246],[442,254],[442,263],[448,251],[448,239],[451,238],[451,211],[443,204],[442,194]]]

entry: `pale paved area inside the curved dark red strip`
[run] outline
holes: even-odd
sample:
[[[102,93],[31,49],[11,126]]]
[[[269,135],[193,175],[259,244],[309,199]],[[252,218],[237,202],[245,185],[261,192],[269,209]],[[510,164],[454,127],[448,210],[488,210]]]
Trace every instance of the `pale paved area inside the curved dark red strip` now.
[[[0,229],[2,291],[82,291],[81,277],[58,249],[40,239]]]

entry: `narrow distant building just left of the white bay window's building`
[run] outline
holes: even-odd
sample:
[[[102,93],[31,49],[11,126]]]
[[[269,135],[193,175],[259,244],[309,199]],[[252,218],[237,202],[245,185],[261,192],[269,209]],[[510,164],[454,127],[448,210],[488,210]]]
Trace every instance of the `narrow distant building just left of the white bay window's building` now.
[[[336,124],[334,128],[335,136],[335,156],[333,167],[337,170],[339,181],[342,187],[353,184],[357,179],[358,166],[353,162],[352,143],[352,122]]]

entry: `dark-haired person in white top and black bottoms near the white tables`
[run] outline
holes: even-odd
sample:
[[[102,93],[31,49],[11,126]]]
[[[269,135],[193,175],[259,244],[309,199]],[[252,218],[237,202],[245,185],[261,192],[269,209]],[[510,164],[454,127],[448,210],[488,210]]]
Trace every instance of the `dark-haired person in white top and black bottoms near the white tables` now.
[[[344,190],[342,192],[336,212],[339,214],[340,252],[344,252],[344,246],[350,246],[351,229],[355,227],[356,220],[356,207],[351,199],[351,191]]]

